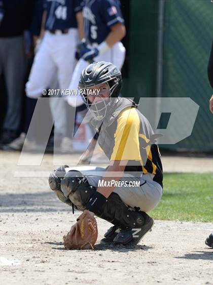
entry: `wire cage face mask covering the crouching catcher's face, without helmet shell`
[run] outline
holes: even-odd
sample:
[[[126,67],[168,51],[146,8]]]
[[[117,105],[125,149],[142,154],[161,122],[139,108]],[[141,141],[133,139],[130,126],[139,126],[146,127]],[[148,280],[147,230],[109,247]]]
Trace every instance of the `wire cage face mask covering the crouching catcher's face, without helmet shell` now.
[[[117,85],[116,82],[110,87],[109,82],[105,82],[90,88],[79,88],[84,103],[96,120],[102,120],[107,114],[107,109],[113,101],[113,91]]]

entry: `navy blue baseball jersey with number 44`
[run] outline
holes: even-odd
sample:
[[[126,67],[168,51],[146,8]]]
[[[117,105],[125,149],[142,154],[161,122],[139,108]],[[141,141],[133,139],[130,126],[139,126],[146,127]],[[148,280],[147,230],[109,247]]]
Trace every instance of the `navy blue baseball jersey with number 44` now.
[[[44,9],[46,30],[77,28],[76,13],[82,10],[80,0],[44,0]]]

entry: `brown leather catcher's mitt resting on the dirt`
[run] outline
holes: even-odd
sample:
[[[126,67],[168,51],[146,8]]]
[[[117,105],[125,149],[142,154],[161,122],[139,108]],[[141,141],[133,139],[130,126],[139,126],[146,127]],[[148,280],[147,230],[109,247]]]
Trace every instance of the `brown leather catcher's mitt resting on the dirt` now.
[[[85,210],[67,235],[63,236],[65,248],[69,250],[94,249],[93,246],[98,235],[97,223],[88,212]]]

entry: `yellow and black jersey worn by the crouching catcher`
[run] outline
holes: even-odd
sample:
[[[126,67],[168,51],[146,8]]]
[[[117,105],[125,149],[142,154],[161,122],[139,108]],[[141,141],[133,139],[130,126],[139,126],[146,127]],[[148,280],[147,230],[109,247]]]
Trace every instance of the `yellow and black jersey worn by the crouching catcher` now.
[[[154,132],[140,111],[132,106],[121,110],[105,131],[111,140],[108,153],[105,152],[110,160],[128,160],[125,172],[151,173],[162,186],[159,148],[156,141],[150,141]]]

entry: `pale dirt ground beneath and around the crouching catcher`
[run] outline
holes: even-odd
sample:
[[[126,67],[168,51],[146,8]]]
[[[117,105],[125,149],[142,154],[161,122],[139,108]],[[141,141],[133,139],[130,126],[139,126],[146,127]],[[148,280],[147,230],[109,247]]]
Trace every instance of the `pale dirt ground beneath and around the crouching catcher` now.
[[[80,212],[73,215],[48,187],[52,155],[40,167],[18,167],[18,158],[1,153],[1,285],[213,284],[212,250],[204,244],[210,223],[155,221],[153,231],[128,248],[100,245],[110,224],[97,219],[94,251],[65,250],[62,236]],[[169,172],[212,171],[212,158],[162,160]]]

